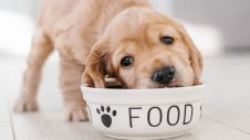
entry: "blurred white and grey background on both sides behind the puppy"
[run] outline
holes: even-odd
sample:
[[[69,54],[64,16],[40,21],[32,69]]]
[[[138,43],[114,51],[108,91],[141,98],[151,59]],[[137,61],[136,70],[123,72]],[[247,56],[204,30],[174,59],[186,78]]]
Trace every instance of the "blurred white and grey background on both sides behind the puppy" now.
[[[250,52],[249,0],[150,0],[180,20],[205,55]],[[40,0],[0,0],[0,52],[23,55],[30,49]]]

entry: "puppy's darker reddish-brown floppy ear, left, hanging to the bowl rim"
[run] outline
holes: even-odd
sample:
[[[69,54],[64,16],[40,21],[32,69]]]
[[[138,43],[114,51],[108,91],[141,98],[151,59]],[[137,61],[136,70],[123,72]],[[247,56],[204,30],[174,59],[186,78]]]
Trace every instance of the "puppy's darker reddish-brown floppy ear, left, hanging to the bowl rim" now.
[[[96,43],[92,47],[82,76],[83,84],[88,87],[105,88],[107,57],[105,43]]]

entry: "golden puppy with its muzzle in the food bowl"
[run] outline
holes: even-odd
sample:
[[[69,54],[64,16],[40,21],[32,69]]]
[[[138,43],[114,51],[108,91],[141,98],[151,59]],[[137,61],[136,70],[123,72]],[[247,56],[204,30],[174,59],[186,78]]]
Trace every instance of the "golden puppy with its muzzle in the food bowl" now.
[[[81,82],[105,88],[200,84],[202,58],[186,30],[146,0],[43,0],[15,111],[38,109],[41,68],[55,49],[67,120],[86,120]]]

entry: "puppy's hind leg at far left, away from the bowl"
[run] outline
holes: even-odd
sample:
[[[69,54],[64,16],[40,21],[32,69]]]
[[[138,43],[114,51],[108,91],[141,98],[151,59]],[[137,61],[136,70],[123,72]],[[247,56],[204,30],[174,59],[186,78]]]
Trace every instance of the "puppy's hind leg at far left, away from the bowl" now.
[[[14,106],[15,111],[34,111],[38,109],[37,91],[40,84],[41,69],[52,51],[53,45],[51,41],[41,30],[37,30],[28,57],[28,68],[24,72],[21,94]]]

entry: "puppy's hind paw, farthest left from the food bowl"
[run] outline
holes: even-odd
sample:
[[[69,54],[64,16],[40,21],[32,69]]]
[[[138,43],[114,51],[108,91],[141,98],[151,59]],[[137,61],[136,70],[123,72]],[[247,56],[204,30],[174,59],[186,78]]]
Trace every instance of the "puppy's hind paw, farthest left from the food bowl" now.
[[[13,109],[15,112],[37,111],[38,103],[34,98],[20,97]]]

